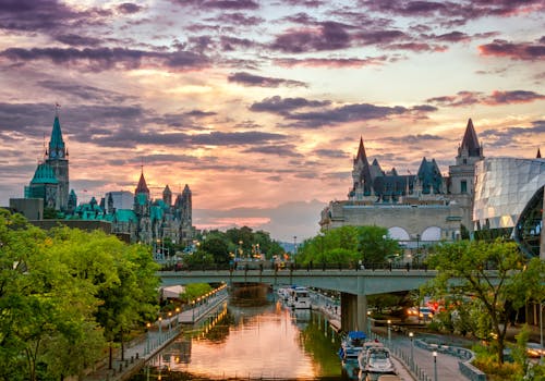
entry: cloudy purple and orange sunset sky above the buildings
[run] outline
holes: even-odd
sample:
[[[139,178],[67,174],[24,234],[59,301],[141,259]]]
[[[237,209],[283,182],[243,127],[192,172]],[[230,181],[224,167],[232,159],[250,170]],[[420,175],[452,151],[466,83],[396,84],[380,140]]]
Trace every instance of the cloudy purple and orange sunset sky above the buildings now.
[[[80,201],[143,170],[196,228],[301,242],[361,137],[400,174],[447,175],[469,118],[486,157],[545,153],[544,63],[543,0],[0,0],[0,205],[58,103]]]

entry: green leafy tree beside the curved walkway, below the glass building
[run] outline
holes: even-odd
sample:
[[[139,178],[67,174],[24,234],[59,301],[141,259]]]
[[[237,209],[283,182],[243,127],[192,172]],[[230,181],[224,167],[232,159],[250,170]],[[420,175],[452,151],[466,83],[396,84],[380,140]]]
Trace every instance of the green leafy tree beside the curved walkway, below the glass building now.
[[[529,299],[543,296],[545,265],[538,258],[528,261],[514,243],[499,239],[443,244],[428,265],[438,274],[425,292],[436,299],[471,300],[464,304],[471,305],[475,333],[496,342],[502,362],[509,317]]]

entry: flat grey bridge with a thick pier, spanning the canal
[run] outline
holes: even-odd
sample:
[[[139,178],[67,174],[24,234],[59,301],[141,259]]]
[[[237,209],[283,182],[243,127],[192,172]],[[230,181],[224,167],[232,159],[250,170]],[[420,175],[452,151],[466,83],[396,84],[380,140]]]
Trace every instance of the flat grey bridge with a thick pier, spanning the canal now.
[[[367,295],[416,290],[434,279],[437,271],[414,269],[380,270],[192,270],[159,271],[164,286],[189,283],[266,283],[275,286],[302,285],[335,290],[341,295],[341,329],[365,330]]]

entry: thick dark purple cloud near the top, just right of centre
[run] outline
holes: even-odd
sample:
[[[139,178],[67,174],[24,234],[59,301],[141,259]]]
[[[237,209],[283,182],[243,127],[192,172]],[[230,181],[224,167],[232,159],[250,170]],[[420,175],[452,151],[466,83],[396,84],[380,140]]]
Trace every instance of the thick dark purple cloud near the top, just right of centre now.
[[[325,22],[318,27],[291,29],[278,35],[269,45],[272,50],[287,53],[338,50],[350,47],[350,35],[346,26],[335,22]]]

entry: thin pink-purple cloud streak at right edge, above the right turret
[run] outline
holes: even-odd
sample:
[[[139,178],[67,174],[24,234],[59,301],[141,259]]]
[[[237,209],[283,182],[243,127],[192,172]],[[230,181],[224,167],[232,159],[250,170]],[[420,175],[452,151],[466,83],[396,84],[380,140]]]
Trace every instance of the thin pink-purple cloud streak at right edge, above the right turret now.
[[[545,96],[525,90],[498,91],[495,90],[491,95],[484,95],[477,91],[459,91],[456,96],[443,96],[429,98],[426,102],[435,103],[443,107],[465,107],[475,103],[497,106],[512,103],[529,103],[535,100],[544,99]]]

